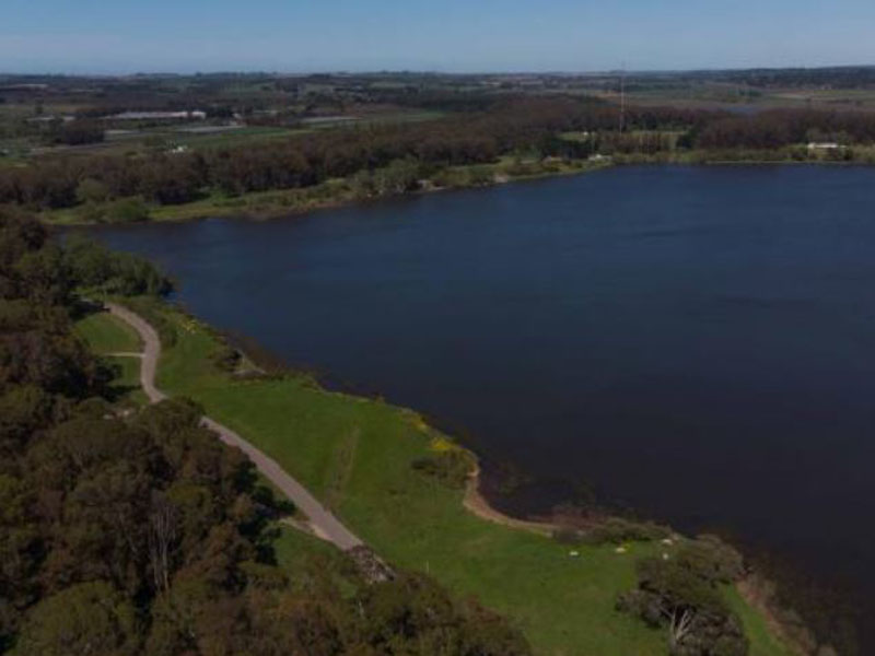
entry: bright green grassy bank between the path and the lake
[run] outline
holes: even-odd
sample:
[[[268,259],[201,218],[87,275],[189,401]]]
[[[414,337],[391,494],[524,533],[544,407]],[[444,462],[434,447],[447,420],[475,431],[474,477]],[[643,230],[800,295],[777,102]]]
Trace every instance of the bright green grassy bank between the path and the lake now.
[[[521,626],[542,655],[657,655],[663,632],[614,609],[634,586],[637,558],[664,547],[569,547],[550,538],[483,522],[464,509],[463,491],[417,472],[411,464],[445,448],[446,440],[416,413],[381,401],[319,389],[303,376],[234,380],[212,364],[211,331],[163,311],[175,326],[159,385],[202,403],[207,412],[276,458],[390,562],[422,570],[462,597]],[[288,531],[280,560],[308,541]],[[761,616],[733,591],[751,654],[785,654]]]

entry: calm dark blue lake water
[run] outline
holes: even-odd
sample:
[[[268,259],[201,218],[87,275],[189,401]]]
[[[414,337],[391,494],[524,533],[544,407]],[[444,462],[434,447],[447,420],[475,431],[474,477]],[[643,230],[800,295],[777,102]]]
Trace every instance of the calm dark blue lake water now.
[[[94,234],[205,320],[550,483],[536,504],[585,482],[875,589],[875,169],[616,168]]]

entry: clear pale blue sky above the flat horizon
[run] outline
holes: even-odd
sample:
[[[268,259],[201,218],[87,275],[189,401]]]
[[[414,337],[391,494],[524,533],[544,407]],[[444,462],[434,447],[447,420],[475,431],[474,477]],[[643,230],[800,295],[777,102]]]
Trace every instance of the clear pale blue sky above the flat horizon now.
[[[875,0],[0,0],[0,71],[875,63]]]

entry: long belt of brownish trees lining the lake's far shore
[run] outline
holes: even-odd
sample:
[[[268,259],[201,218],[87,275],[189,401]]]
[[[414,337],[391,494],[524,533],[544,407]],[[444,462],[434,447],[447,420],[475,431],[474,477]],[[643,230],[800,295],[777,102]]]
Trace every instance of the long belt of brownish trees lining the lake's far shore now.
[[[141,197],[185,203],[208,190],[228,195],[293,189],[415,162],[423,172],[494,162],[514,153],[585,157],[608,152],[653,154],[677,148],[778,149],[812,139],[875,142],[875,115],[806,110],[725,112],[632,107],[620,132],[612,105],[568,97],[515,98],[487,112],[455,114],[419,124],[362,126],[196,152],[88,155],[36,160],[0,171],[0,203],[34,209]],[[568,141],[568,131],[592,133]],[[673,140],[666,133],[682,132]],[[129,213],[137,212],[127,208]],[[135,208],[136,210],[136,208]]]

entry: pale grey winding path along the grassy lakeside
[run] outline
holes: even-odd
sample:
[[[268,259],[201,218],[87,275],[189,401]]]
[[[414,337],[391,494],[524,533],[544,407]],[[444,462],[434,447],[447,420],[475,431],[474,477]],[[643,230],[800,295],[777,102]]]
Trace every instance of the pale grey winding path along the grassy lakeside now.
[[[131,326],[140,335],[140,339],[142,339],[142,353],[131,353],[131,355],[141,356],[140,384],[142,385],[145,396],[149,397],[152,403],[158,403],[159,401],[167,399],[167,395],[155,387],[155,373],[158,372],[158,362],[161,356],[161,340],[159,339],[158,332],[155,332],[155,329],[145,319],[128,308],[115,303],[106,303],[105,305],[110,314]],[[322,505],[306,488],[289,476],[276,460],[265,455],[237,433],[220,424],[218,421],[205,417],[201,423],[215,432],[222,442],[229,446],[235,446],[245,453],[258,468],[258,471],[281,490],[295,507],[307,516],[310,525],[316,535],[332,542],[342,551],[350,551],[364,546],[364,543]]]

